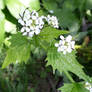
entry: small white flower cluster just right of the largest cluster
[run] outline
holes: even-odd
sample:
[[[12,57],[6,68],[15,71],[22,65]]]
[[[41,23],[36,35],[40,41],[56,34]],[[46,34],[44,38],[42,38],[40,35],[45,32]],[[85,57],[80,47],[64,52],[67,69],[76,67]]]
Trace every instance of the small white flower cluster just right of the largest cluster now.
[[[46,20],[47,20],[48,24],[51,25],[52,27],[59,28],[59,26],[58,26],[58,19],[57,19],[56,16],[48,15]]]

